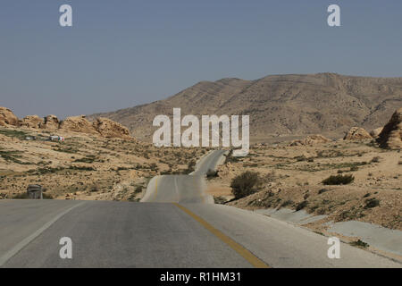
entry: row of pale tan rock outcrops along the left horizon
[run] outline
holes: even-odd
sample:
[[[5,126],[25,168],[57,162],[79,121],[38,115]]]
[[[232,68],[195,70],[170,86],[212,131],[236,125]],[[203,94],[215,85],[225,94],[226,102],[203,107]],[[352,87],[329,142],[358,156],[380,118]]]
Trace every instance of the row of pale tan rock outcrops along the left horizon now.
[[[85,115],[80,115],[67,117],[65,120],[59,121],[55,115],[47,115],[45,118],[40,118],[38,115],[28,115],[19,120],[13,114],[13,111],[2,106],[0,106],[0,126],[49,131],[72,131],[99,135],[105,138],[131,138],[130,132],[126,127],[108,118],[96,118],[95,122],[89,122]]]

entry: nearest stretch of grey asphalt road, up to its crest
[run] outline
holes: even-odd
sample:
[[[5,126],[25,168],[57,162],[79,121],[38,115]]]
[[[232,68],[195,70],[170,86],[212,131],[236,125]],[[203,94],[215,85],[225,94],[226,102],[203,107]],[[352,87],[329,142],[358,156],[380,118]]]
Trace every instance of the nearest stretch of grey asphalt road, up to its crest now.
[[[0,217],[3,267],[401,267],[346,244],[330,259],[322,235],[230,206],[2,200]]]

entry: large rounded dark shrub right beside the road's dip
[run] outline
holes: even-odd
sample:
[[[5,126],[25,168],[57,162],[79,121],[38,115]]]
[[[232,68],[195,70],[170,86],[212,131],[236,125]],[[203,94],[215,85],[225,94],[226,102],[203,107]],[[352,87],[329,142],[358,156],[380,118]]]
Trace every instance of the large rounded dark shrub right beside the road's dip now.
[[[235,198],[244,198],[254,194],[260,184],[261,180],[257,172],[243,172],[230,182],[231,193]]]

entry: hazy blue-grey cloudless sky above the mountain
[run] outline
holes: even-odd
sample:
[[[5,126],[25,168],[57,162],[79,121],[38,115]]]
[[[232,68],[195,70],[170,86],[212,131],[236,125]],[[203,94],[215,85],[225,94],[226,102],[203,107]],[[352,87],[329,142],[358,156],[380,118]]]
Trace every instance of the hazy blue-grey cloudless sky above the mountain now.
[[[71,4],[73,27],[59,25]],[[327,25],[339,4],[339,28]],[[400,0],[1,0],[0,105],[113,111],[200,80],[333,71],[402,76]]]

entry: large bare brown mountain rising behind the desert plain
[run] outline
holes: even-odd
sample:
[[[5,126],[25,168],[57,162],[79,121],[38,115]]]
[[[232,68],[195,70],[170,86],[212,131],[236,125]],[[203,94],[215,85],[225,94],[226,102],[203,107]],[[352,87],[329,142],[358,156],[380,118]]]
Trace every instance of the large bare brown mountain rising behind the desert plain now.
[[[342,138],[353,126],[383,126],[402,105],[402,78],[366,78],[334,73],[272,75],[260,80],[202,81],[147,105],[88,117],[107,117],[150,141],[157,114],[249,114],[252,138],[321,133]],[[182,115],[182,116],[183,116]]]

